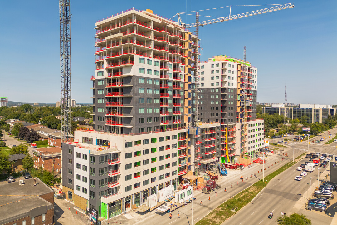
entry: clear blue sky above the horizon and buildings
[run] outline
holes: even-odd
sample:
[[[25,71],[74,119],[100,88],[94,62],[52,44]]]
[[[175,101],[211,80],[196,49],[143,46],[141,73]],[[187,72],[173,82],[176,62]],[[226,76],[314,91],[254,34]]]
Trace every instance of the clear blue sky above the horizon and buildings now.
[[[99,1],[98,1],[99,2]],[[72,97],[92,102],[95,22],[128,8],[171,18],[177,12],[281,1],[86,1],[71,0]],[[205,4],[207,3],[207,4]],[[200,28],[202,60],[225,54],[258,68],[258,102],[337,104],[337,1],[294,1],[295,7]],[[270,6],[233,7],[231,15]],[[228,16],[229,8],[202,11]],[[182,16],[193,23],[195,17]],[[201,17],[200,21],[210,18]],[[177,21],[177,18],[174,18]],[[9,101],[56,102],[60,98],[58,1],[2,1],[0,7],[0,95]]]

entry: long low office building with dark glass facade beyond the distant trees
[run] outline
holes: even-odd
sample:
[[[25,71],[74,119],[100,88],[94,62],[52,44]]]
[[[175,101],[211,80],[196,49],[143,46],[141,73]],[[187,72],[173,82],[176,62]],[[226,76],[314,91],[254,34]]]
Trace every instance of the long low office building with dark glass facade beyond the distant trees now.
[[[284,115],[287,118],[304,120],[307,123],[324,123],[329,115],[336,114],[336,110],[337,108],[333,108],[332,105],[315,104],[300,104],[299,107],[283,107],[281,105],[263,107],[263,113]]]

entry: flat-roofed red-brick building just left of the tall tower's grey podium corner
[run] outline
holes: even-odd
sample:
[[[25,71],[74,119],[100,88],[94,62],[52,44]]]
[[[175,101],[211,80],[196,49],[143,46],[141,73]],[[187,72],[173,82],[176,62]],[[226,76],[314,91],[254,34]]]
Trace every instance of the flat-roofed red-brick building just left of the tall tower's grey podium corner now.
[[[49,147],[49,148],[37,148],[33,150],[34,153],[34,167],[48,170],[49,172],[58,172],[61,170],[61,148]],[[53,165],[54,164],[54,165]]]

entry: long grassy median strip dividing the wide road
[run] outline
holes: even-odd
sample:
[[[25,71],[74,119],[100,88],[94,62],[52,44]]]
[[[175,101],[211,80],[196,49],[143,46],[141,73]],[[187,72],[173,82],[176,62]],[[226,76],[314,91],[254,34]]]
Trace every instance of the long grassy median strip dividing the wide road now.
[[[305,154],[306,153],[301,154],[296,159],[301,158]],[[253,198],[267,186],[268,182],[272,178],[274,178],[276,175],[280,174],[284,170],[288,169],[289,167],[293,166],[295,163],[297,163],[297,160],[294,162],[290,161],[281,168],[279,168],[278,170],[272,172],[271,174],[265,177],[265,182],[263,182],[262,180],[255,182],[255,184],[246,188],[239,194],[228,199],[227,201],[219,205],[217,208],[212,210],[212,212],[210,212],[207,216],[198,221],[196,225],[220,225],[221,223],[223,223],[223,221],[234,215],[241,208],[243,208],[245,205],[251,202]],[[231,209],[235,209],[235,212],[232,212]]]

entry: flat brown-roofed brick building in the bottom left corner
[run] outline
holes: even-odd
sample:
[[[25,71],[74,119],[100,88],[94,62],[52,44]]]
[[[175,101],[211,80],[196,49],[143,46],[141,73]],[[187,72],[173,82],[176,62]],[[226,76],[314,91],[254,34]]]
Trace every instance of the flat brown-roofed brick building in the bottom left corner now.
[[[36,186],[34,182],[36,179]],[[0,185],[0,224],[51,225],[54,222],[54,192],[39,178]]]

